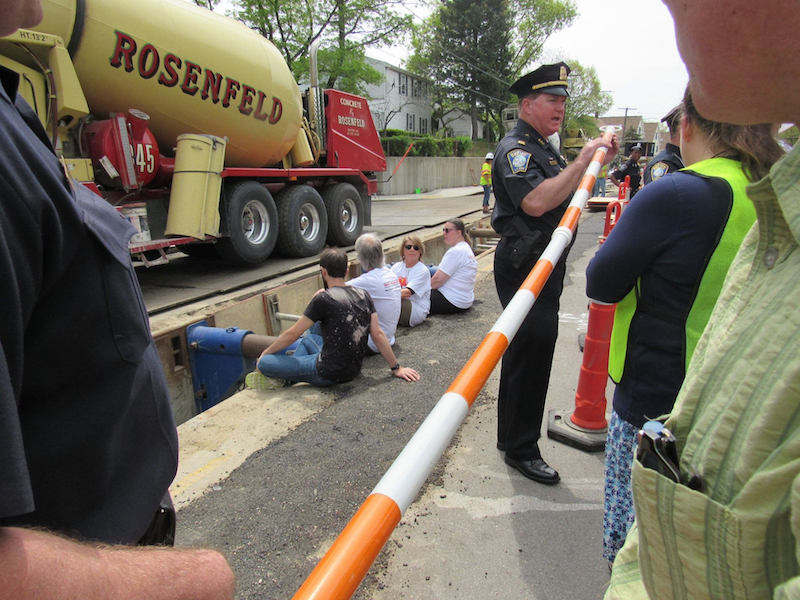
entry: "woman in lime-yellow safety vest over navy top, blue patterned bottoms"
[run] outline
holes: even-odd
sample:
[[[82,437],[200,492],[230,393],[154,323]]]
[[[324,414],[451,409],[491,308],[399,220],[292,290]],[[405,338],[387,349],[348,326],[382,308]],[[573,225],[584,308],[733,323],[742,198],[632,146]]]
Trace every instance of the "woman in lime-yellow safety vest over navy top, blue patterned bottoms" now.
[[[755,222],[745,187],[782,155],[769,125],[708,121],[688,90],[683,111],[681,149],[689,166],[637,194],[586,271],[587,295],[617,303],[603,519],[609,564],[634,519],[636,434],[672,409],[728,267]]]

